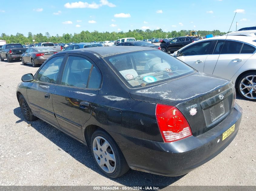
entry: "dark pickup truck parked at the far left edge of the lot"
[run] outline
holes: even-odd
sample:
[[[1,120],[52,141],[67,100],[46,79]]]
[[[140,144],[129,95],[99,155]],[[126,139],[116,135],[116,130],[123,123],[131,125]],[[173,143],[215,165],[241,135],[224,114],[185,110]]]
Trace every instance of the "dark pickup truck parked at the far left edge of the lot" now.
[[[7,59],[7,62],[11,62],[13,59],[19,60],[26,49],[21,44],[5,44],[0,50],[0,60]]]

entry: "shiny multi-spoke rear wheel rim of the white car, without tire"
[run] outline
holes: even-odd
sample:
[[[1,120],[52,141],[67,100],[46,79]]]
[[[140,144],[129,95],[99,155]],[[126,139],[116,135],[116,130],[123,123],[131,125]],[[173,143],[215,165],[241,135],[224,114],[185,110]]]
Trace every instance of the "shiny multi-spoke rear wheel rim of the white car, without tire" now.
[[[239,84],[241,94],[248,99],[256,99],[256,75],[248,75]]]

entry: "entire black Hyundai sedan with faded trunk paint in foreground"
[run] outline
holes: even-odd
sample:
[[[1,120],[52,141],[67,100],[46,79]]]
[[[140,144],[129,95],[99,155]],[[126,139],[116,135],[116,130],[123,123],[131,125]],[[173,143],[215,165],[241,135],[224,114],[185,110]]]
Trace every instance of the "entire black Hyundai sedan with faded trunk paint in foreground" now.
[[[188,173],[231,143],[242,116],[230,80],[141,46],[57,53],[22,77],[17,98],[26,120],[88,145],[112,178]]]

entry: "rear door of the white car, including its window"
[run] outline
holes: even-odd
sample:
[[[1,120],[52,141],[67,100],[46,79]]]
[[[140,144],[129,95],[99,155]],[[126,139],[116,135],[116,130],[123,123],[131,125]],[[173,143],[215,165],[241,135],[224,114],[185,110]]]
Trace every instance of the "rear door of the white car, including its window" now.
[[[255,52],[254,46],[234,40],[226,40],[225,43],[224,40],[218,40],[217,46],[222,47],[222,50],[212,74],[227,79],[231,79]]]

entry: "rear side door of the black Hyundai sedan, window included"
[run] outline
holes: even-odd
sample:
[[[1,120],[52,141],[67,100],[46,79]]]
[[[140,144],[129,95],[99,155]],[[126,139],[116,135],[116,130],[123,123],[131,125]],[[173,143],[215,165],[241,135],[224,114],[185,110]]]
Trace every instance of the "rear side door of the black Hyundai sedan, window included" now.
[[[62,78],[53,94],[60,128],[83,140],[82,127],[90,119],[101,86],[101,72],[86,56],[69,54]]]

